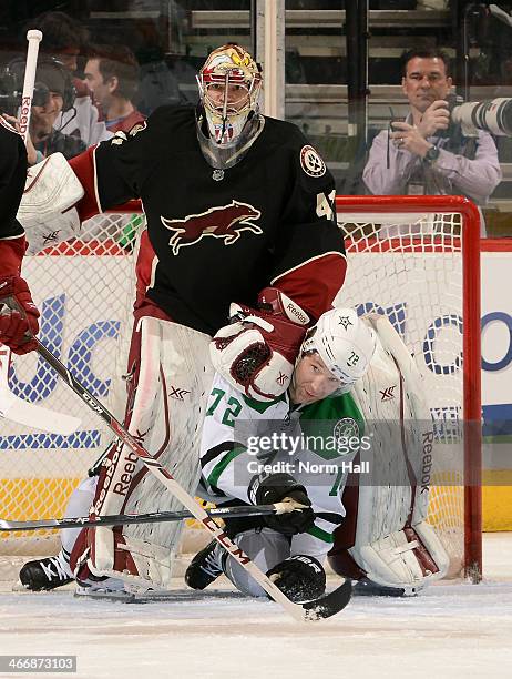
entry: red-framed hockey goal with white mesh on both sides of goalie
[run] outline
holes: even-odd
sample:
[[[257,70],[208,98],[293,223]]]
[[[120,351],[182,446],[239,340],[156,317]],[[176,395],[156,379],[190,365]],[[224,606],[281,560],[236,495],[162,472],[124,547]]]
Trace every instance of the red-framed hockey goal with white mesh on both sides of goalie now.
[[[468,424],[480,422],[478,211],[453,196],[347,196],[336,204],[349,263],[337,304],[388,315],[426,376],[441,447],[449,450],[463,438],[463,459],[449,472],[443,467],[438,485],[433,472],[429,520],[450,555],[451,575],[465,570],[478,580],[480,439],[474,429],[464,436]],[[99,215],[82,224],[80,240],[23,263],[41,311],[41,341],[121,418],[134,243],[143,226],[135,211]],[[9,384],[14,395],[75,415],[81,425],[63,437],[1,422],[1,516],[63,516],[66,498],[111,434],[35,353],[13,357]],[[191,523],[185,539],[198,533]],[[55,531],[0,534],[0,556],[12,563],[20,555],[54,554],[57,546]]]

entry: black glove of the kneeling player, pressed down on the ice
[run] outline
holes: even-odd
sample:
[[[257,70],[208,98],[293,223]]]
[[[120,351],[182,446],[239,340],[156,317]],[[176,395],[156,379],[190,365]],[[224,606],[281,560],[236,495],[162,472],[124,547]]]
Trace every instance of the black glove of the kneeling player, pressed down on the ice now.
[[[277,564],[267,576],[296,604],[318,599],[326,590],[326,571],[321,564],[303,554]]]

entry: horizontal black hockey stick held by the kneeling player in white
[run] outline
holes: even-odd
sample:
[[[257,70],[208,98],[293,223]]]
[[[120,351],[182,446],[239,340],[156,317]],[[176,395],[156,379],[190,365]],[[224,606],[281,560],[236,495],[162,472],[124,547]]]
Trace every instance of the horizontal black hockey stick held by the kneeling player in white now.
[[[216,507],[208,509],[207,514],[212,518],[234,518],[244,516],[269,516],[270,514],[286,514],[289,508],[287,503],[277,503],[275,505],[240,505],[239,507]],[[340,524],[342,518],[339,514],[330,511],[319,511],[315,514],[316,518],[329,521],[330,524]],[[106,516],[76,516],[60,519],[39,519],[33,521],[10,521],[9,519],[0,518],[0,531],[16,533],[18,530],[39,530],[40,528],[83,528],[84,526],[127,526],[130,524],[160,524],[166,521],[182,521],[184,519],[194,518],[194,515],[186,509],[183,511],[151,511],[149,514],[112,514]]]

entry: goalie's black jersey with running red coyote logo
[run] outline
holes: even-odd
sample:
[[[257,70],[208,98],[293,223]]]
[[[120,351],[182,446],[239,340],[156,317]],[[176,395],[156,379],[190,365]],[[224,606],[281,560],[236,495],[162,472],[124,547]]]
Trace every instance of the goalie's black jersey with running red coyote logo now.
[[[342,285],[334,180],[290,123],[266,118],[247,155],[218,172],[201,151],[194,109],[164,107],[71,165],[86,191],[83,219],[142,200],[146,295],[177,323],[213,334],[229,302],[254,306],[267,285],[315,318]]]

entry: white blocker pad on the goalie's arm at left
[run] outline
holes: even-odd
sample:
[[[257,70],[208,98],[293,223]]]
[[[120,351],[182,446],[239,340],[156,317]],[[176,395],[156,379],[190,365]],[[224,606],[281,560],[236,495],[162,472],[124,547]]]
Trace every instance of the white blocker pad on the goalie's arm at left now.
[[[73,205],[83,194],[62,153],[52,153],[29,169],[17,215],[25,230],[28,254],[79,235],[80,219]]]

